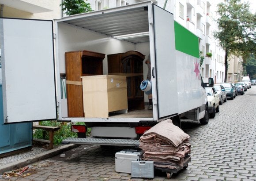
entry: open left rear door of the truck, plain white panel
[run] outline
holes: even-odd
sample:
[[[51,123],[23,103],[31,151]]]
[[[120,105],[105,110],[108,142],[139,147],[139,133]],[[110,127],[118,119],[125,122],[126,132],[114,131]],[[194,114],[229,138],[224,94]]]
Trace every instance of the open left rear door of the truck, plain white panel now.
[[[0,18],[4,123],[56,119],[53,22]]]

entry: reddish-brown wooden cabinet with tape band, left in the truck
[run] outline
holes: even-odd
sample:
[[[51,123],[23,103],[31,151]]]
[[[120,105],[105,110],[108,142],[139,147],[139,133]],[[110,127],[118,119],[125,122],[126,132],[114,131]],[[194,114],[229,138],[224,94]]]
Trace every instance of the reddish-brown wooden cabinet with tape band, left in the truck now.
[[[93,51],[65,52],[68,117],[84,116],[81,76],[102,75],[104,58]]]

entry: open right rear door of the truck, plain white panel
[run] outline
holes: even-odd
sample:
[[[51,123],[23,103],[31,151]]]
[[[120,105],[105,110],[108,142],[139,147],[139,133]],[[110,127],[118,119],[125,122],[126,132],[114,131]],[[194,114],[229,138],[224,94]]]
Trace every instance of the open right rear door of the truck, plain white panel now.
[[[152,76],[156,77],[159,120],[178,114],[177,72],[173,14],[153,4],[153,16],[156,75],[153,71]]]

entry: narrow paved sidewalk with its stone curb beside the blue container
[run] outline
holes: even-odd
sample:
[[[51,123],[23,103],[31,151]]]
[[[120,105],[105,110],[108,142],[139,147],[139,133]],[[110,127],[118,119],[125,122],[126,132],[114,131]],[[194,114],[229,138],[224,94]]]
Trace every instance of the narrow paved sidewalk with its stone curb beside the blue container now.
[[[37,162],[42,159],[47,159],[56,156],[62,152],[68,151],[78,146],[79,145],[69,144],[49,150],[46,148],[40,148],[33,145],[33,148],[29,151],[0,158],[0,174],[3,174],[6,171],[19,169],[21,167],[24,167],[26,165]]]

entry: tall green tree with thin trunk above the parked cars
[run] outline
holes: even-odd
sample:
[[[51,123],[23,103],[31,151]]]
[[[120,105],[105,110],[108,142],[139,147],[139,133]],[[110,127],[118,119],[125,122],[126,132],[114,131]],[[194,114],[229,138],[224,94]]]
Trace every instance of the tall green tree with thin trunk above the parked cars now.
[[[245,60],[256,51],[256,14],[252,14],[248,3],[241,0],[223,0],[218,4],[218,30],[214,37],[225,51],[225,82],[228,71],[228,56],[242,56]]]

